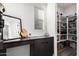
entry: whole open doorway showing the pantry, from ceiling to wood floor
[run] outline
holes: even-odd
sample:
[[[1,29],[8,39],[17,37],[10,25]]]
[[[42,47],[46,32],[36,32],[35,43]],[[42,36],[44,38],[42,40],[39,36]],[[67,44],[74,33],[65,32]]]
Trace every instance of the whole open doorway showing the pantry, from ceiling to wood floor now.
[[[76,3],[57,3],[57,55],[77,55]]]

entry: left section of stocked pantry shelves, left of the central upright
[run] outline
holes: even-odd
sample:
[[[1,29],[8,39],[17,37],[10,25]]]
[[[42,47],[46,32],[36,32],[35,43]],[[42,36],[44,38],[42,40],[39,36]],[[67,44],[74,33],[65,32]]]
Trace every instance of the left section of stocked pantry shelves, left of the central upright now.
[[[64,41],[67,39],[67,20],[62,17],[62,14],[57,15],[57,41]]]

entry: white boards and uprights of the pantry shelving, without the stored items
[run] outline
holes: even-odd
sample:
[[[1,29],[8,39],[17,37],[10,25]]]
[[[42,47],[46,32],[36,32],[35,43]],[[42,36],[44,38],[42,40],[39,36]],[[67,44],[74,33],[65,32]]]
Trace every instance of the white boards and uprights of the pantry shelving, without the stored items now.
[[[60,17],[61,17],[61,16],[60,16]],[[75,27],[70,28],[70,27],[69,27],[69,23],[72,24],[72,23],[76,23],[77,21],[75,21],[75,22],[70,22],[70,21],[69,21],[69,18],[67,17],[67,18],[66,18],[66,22],[62,21],[61,18],[59,18],[59,21],[57,21],[57,23],[58,23],[58,22],[59,22],[59,25],[57,25],[57,26],[58,26],[58,29],[59,29],[59,33],[57,33],[57,35],[59,35],[59,41],[57,41],[57,42],[63,42],[63,41],[69,40],[69,36],[75,36],[75,35],[77,35],[77,34],[69,34],[69,30],[76,30],[76,29],[77,29],[77,28],[75,28]],[[60,26],[61,23],[66,23],[67,28],[61,28],[61,26]],[[66,34],[60,34],[60,32],[61,32],[62,29],[63,29],[63,30],[66,29],[66,30],[67,30],[67,33],[66,33]],[[61,38],[60,38],[61,35],[67,35],[67,37],[66,37],[67,39],[62,39],[62,40],[61,40]],[[76,42],[75,40],[70,40],[70,41]]]

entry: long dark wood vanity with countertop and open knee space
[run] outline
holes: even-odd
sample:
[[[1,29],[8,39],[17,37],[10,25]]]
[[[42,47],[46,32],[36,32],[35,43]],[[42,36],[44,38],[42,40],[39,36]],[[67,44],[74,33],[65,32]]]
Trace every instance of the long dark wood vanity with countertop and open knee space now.
[[[16,38],[3,41],[0,55],[7,56],[6,49],[22,45],[30,45],[30,56],[52,56],[54,53],[53,37]]]

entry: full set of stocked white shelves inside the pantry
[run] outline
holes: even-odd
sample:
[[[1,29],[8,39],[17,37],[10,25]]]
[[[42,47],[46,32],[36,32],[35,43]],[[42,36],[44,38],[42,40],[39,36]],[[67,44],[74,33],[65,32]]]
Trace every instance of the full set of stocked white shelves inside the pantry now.
[[[57,42],[62,42],[66,40],[76,42],[77,40],[76,19],[77,19],[76,14],[74,16],[66,16],[66,17],[64,17],[62,13],[59,13],[57,15]]]

